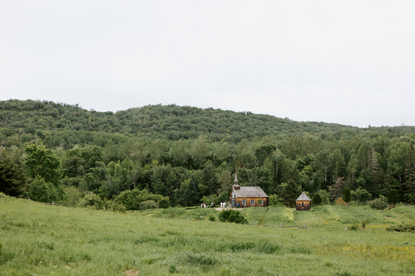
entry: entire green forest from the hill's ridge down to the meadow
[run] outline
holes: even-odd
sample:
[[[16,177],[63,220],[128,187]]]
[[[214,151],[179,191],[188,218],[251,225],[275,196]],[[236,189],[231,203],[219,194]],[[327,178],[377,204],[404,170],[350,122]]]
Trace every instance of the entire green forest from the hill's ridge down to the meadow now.
[[[39,201],[132,209],[146,199],[220,202],[236,169],[240,185],[283,203],[293,201],[291,191],[336,201],[345,188],[354,201],[391,189],[400,202],[415,198],[413,126],[358,128],[174,104],[98,112],[10,99],[0,102],[0,142],[0,191]]]

